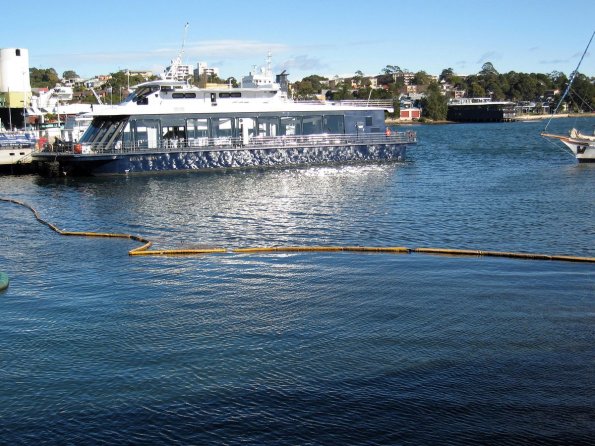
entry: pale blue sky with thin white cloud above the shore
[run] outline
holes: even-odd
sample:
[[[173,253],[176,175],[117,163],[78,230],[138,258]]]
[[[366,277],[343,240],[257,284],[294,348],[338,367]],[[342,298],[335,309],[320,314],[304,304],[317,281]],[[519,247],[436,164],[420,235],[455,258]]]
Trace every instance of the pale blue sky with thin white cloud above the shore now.
[[[30,66],[83,77],[120,69],[160,72],[207,62],[241,78],[272,53],[290,80],[380,74],[387,65],[440,74],[570,74],[595,30],[592,0],[261,0],[9,2],[0,48],[29,50]],[[580,71],[595,76],[595,42]]]

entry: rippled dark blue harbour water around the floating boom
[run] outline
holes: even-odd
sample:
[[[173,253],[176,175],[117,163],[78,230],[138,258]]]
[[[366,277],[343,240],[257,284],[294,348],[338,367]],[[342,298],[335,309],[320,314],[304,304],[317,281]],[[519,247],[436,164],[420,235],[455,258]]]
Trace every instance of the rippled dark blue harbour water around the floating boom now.
[[[550,131],[573,120],[558,119]],[[590,129],[595,119],[579,119]],[[156,248],[595,257],[595,165],[544,122],[416,126],[405,163],[0,177]],[[130,257],[0,202],[0,444],[593,444],[595,265],[427,254]]]

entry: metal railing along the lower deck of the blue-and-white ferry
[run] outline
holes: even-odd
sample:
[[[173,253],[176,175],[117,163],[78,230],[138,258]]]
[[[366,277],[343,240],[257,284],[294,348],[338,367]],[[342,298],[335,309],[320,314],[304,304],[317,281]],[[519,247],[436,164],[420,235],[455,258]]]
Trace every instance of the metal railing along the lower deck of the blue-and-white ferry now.
[[[415,144],[414,131],[384,133],[360,133],[347,135],[301,135],[301,136],[254,136],[169,139],[158,144],[139,140],[134,144],[116,142],[111,145],[89,143],[67,143],[56,152],[74,154],[130,154],[147,152],[217,151],[217,150],[258,150],[275,148],[327,147],[345,145]]]

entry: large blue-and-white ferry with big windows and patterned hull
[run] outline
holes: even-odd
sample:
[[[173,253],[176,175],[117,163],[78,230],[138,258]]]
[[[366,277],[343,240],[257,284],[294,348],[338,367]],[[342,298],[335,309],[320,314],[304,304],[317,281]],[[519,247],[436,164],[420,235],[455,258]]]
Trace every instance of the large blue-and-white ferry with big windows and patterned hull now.
[[[78,142],[36,152],[33,162],[48,176],[210,171],[402,161],[417,142],[415,132],[385,126],[383,107],[295,102],[281,83],[145,82],[94,112]]]

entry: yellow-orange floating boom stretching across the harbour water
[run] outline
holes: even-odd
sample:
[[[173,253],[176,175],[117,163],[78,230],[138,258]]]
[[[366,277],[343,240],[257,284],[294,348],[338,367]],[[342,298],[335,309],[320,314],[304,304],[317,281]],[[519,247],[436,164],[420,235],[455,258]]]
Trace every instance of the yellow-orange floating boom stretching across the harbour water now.
[[[256,248],[235,248],[227,250],[225,248],[198,248],[198,249],[161,249],[151,251],[149,248],[153,242],[144,237],[132,234],[118,234],[108,232],[78,232],[65,231],[58,228],[52,223],[44,220],[31,205],[15,200],[13,198],[2,198],[0,201],[18,204],[26,207],[33,212],[33,215],[40,223],[48,226],[53,231],[60,235],[80,236],[80,237],[108,237],[108,238],[125,238],[143,243],[142,246],[131,249],[128,255],[131,256],[177,256],[177,255],[196,255],[196,254],[215,254],[215,253],[234,253],[234,254],[253,254],[253,253],[267,253],[267,252],[363,252],[363,253],[393,253],[393,254],[437,254],[447,256],[476,256],[476,257],[509,257],[516,259],[528,260],[556,260],[563,262],[583,262],[595,263],[595,257],[578,257],[565,255],[550,255],[550,254],[534,254],[524,252],[505,252],[505,251],[482,251],[475,249],[450,249],[450,248],[407,248],[404,246],[270,246],[270,247],[256,247]]]

